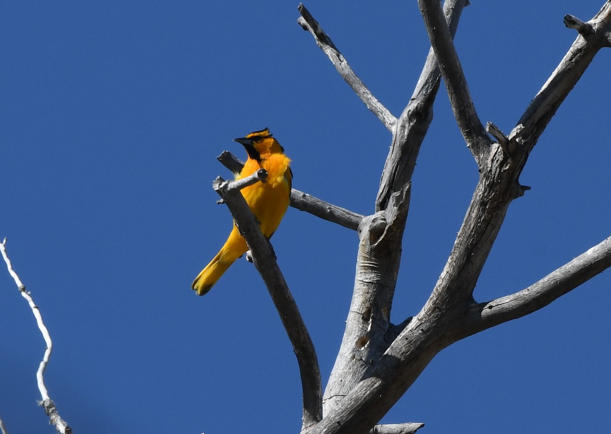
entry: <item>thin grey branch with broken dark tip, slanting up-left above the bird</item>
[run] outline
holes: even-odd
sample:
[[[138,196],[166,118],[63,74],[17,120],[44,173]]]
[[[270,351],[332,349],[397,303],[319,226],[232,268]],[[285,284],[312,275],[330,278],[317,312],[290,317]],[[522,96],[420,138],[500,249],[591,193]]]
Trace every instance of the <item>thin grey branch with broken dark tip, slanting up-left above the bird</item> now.
[[[323,31],[318,21],[312,17],[309,10],[305,9],[303,4],[299,4],[298,9],[301,14],[301,17],[297,20],[299,25],[303,27],[305,31],[312,34],[316,41],[316,45],[318,45],[320,49],[324,51],[324,54],[329,57],[329,60],[331,60],[337,72],[340,73],[340,76],[342,76],[346,83],[354,90],[354,93],[356,93],[360,100],[365,103],[365,106],[382,121],[384,126],[386,126],[389,131],[392,131],[397,118],[395,118],[392,113],[373,96],[373,93],[367,89],[367,86],[365,86],[356,73],[354,73],[353,69],[348,65],[348,62],[346,62],[346,59],[342,56],[342,53],[337,49],[331,38],[329,38],[329,35]]]

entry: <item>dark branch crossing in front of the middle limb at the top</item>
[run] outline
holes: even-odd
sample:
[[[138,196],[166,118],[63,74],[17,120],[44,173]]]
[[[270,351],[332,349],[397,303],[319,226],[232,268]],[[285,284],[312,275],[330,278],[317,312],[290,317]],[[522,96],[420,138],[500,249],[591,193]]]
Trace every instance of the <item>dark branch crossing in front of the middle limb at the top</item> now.
[[[475,111],[473,99],[469,93],[463,68],[458,60],[452,36],[445,22],[444,13],[439,0],[418,0],[420,12],[426,24],[426,31],[431,40],[431,46],[441,67],[445,87],[450,96],[452,111],[456,122],[463,133],[467,146],[481,165],[485,159],[491,140],[486,135],[484,126]]]

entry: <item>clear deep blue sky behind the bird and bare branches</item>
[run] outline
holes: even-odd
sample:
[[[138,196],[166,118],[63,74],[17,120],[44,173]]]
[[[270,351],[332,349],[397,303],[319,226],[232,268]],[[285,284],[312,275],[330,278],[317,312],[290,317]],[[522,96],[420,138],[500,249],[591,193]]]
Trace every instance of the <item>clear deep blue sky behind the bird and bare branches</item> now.
[[[481,120],[508,133],[602,0],[472,1],[456,47]],[[230,215],[223,150],[269,127],[293,186],[373,211],[390,134],[296,24],[298,2],[33,1],[0,13],[0,237],[54,339],[51,397],[76,433],[298,432],[298,367],[254,267],[190,284]],[[305,3],[400,114],[428,52],[417,2]],[[525,288],[609,236],[609,50],[552,119],[478,282]],[[441,272],[477,168],[440,90],[414,173],[392,319]],[[273,238],[323,384],[343,333],[356,234],[289,209]],[[248,282],[245,284],[244,282]],[[609,272],[440,353],[384,419],[422,433],[600,432],[611,424]],[[44,342],[0,272],[0,418],[54,432],[36,406]],[[491,427],[494,427],[493,429]]]

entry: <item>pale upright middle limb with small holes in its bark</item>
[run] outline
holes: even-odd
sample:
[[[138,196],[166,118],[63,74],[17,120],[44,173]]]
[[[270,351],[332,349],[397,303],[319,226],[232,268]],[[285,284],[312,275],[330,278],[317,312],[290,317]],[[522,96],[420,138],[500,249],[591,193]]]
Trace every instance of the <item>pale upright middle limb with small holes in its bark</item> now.
[[[444,5],[452,32],[456,32],[464,0]],[[356,277],[342,345],[324,391],[324,414],[342,405],[344,397],[364,377],[392,339],[390,310],[401,262],[401,240],[409,211],[411,176],[420,145],[433,118],[432,106],[441,74],[429,52],[418,84],[393,131],[384,165],[376,214],[359,227]],[[376,422],[376,421],[374,421]],[[371,425],[370,425],[371,426]]]

